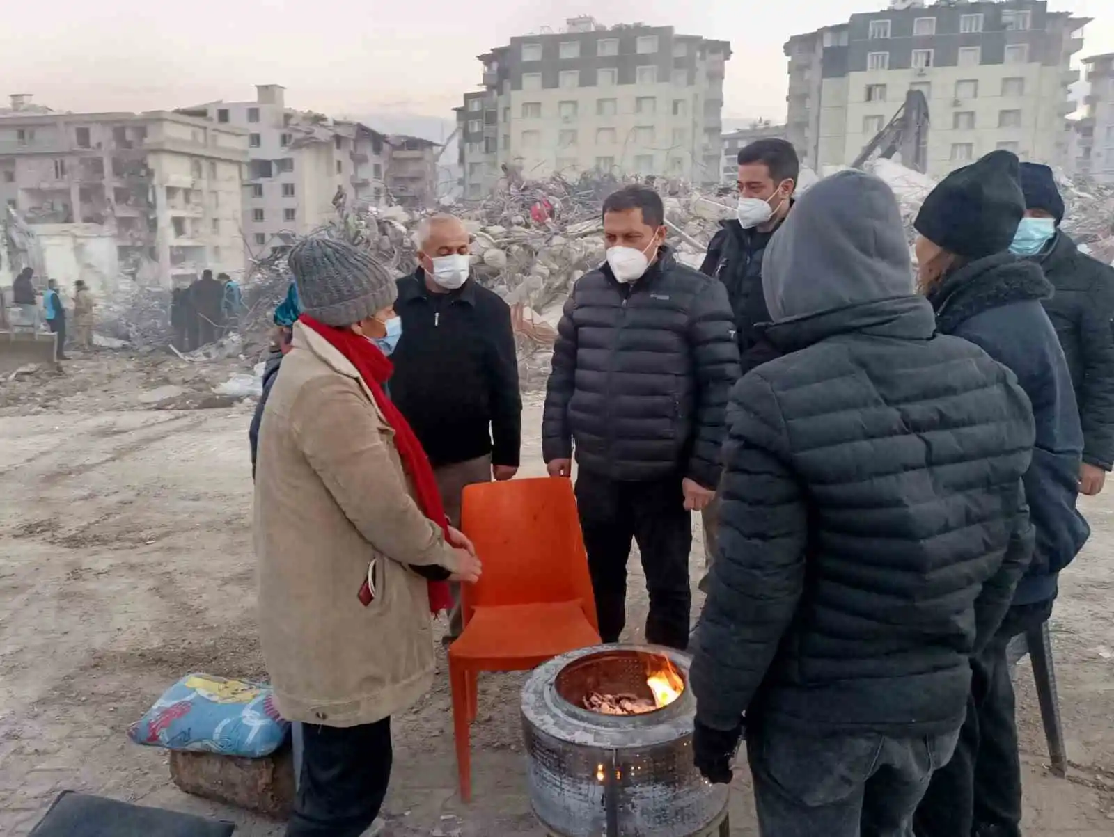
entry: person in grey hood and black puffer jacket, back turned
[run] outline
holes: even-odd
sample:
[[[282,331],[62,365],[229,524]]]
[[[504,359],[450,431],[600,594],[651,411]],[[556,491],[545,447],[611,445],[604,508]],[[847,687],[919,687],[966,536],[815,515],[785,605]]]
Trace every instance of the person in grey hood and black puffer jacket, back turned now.
[[[1008,370],[936,335],[876,177],[812,187],[763,288],[784,354],[731,396],[696,764],[730,781],[745,713],[763,835],[903,837],[1032,552],[1033,414]]]

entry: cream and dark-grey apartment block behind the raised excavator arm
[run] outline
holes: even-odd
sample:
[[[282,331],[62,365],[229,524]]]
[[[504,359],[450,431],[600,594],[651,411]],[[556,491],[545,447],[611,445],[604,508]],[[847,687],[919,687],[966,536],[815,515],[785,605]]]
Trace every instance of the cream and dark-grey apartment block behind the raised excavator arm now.
[[[893,118],[910,89],[925,93],[928,174],[942,176],[1005,148],[1066,161],[1071,58],[1089,22],[1045,0],[892,0],[891,8],[791,38],[789,139],[813,168],[848,165]]]

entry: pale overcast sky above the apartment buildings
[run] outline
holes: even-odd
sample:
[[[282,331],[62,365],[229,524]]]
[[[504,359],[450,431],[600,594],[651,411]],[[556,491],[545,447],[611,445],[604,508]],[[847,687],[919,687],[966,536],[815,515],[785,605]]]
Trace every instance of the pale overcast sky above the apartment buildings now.
[[[451,118],[476,89],[476,56],[544,26],[592,14],[731,41],[725,118],[785,115],[782,45],[886,0],[39,0],[7,3],[0,80],[56,110],[153,110],[254,97],[333,116],[407,111]],[[1052,0],[1095,18],[1082,56],[1114,51],[1114,0]],[[1101,12],[1106,7],[1108,10]],[[1077,57],[1078,58],[1078,57]],[[7,102],[4,102],[7,104]]]

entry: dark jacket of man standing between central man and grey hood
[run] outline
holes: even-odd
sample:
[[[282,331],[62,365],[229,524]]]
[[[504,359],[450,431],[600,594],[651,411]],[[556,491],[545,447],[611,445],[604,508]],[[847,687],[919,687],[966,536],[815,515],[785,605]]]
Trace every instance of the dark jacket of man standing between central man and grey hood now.
[[[775,232],[743,229],[737,220],[721,221],[700,268],[705,276],[714,276],[727,288],[735,315],[740,371],[744,375],[778,356],[759,327],[770,322],[762,296],[762,259]]]

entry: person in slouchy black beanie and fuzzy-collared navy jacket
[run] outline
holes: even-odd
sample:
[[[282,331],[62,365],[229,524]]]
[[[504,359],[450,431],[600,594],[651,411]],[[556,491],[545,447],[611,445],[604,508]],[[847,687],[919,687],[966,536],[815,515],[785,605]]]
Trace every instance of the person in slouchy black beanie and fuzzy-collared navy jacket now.
[[[1042,302],[1052,286],[1009,253],[1025,213],[1018,159],[994,151],[952,171],[917,216],[919,284],[937,328],[964,337],[1017,375],[1036,417],[1025,472],[1036,544],[1001,627],[971,657],[971,693],[956,754],[917,813],[920,837],[1019,837],[1022,772],[1006,647],[1052,613],[1057,578],[1091,530],[1076,511],[1083,431],[1064,351]]]

